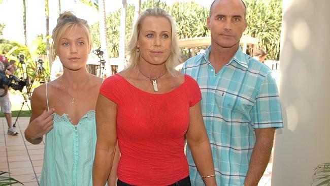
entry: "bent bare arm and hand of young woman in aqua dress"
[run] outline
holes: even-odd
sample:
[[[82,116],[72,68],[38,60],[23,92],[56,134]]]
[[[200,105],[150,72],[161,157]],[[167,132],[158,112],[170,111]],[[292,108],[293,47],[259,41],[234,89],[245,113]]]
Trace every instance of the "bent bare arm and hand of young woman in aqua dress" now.
[[[43,140],[43,135],[53,129],[54,109],[45,108],[45,89],[44,86],[38,87],[31,98],[31,117],[27,128],[25,129],[25,139],[32,144],[39,144]]]

